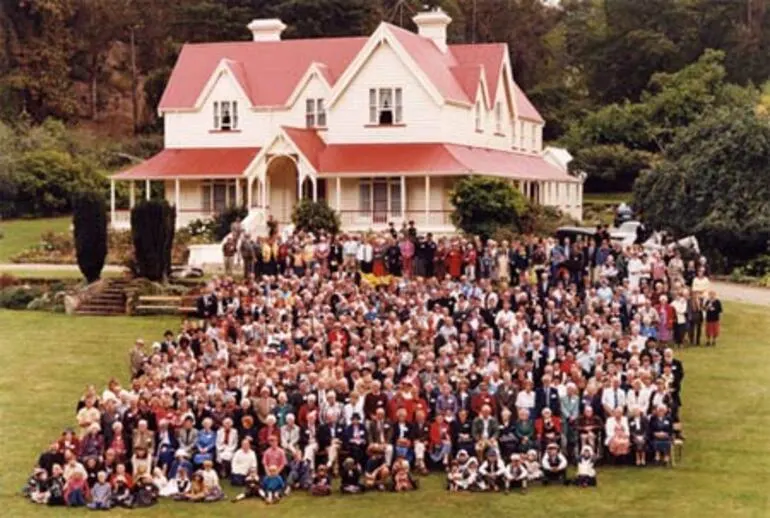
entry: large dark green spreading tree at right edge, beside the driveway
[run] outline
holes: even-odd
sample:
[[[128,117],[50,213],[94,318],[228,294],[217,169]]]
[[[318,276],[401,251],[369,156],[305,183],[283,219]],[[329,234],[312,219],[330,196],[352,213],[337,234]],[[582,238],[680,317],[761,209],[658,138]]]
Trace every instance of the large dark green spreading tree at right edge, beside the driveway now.
[[[694,233],[729,269],[767,251],[770,122],[752,107],[722,108],[680,131],[634,186],[653,228]]]

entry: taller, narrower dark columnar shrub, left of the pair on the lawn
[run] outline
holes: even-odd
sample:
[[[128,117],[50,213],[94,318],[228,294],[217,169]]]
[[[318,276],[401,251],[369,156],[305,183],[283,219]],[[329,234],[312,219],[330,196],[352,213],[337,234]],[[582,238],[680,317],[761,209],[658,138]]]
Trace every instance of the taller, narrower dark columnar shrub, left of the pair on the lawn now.
[[[73,202],[75,251],[83,277],[99,280],[107,257],[107,207],[99,192],[83,192]]]

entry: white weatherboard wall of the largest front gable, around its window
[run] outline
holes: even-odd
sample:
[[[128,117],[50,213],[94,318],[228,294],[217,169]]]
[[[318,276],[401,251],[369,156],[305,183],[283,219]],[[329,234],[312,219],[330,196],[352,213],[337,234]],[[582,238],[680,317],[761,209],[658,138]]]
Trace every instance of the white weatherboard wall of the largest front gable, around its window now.
[[[369,89],[401,88],[404,126],[369,125]],[[439,142],[441,106],[436,104],[388,43],[382,43],[329,113],[328,143]]]

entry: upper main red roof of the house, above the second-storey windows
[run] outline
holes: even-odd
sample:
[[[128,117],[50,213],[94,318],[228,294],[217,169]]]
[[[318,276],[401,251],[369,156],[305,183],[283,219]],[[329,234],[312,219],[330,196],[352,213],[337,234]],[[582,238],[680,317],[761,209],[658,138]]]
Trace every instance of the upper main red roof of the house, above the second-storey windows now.
[[[432,40],[385,24],[444,99],[473,104],[478,81],[473,69],[484,69],[490,106],[507,46],[504,43],[449,45],[441,52]],[[284,106],[311,64],[316,63],[334,86],[368,38],[312,38],[186,44],[179,54],[158,109],[189,109],[220,62],[233,72],[253,106]],[[514,86],[522,117],[542,121],[526,95]]]

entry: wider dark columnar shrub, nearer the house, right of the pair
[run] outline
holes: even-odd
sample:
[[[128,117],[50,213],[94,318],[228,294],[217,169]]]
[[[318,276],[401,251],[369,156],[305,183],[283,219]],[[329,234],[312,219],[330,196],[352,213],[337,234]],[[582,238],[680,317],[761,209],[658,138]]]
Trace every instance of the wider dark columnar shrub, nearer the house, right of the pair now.
[[[176,212],[165,200],[138,203],[131,209],[134,268],[138,277],[163,282],[171,272]]]

